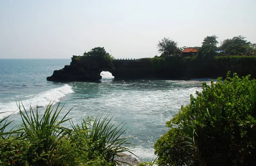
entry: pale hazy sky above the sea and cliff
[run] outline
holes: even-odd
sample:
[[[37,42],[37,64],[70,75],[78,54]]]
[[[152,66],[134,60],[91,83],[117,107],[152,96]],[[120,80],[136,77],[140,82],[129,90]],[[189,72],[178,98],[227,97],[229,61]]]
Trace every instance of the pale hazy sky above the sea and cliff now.
[[[153,57],[163,37],[193,47],[213,34],[256,43],[255,7],[256,0],[0,0],[0,58],[70,58],[94,47],[115,58]]]

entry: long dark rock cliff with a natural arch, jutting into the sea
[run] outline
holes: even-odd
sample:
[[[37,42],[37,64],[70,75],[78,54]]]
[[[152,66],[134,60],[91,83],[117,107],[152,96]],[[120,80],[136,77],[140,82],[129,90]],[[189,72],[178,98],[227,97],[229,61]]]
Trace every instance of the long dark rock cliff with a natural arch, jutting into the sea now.
[[[102,79],[100,73],[109,71],[115,79],[191,79],[225,77],[227,71],[239,76],[256,75],[256,58],[215,58],[211,61],[182,57],[143,58],[136,60],[102,60],[98,57],[73,56],[70,65],[55,70],[49,81],[72,82]],[[246,61],[246,63],[243,63]]]

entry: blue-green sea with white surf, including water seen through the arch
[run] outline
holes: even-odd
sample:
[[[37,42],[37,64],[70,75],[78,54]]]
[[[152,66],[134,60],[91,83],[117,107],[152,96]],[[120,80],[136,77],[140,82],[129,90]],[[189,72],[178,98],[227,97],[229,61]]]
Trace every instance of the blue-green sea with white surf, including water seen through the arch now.
[[[180,109],[189,104],[190,94],[201,91],[202,82],[192,80],[115,80],[102,72],[99,82],[56,83],[46,80],[54,70],[64,68],[71,59],[0,59],[0,119],[12,114],[21,119],[17,104],[25,108],[44,107],[50,101],[66,102],[62,115],[72,107],[69,118],[75,123],[87,116],[110,115],[116,124],[125,124],[125,137],[131,149],[145,161],[154,156],[153,145],[168,128],[165,126]],[[70,124],[64,124],[70,127]]]

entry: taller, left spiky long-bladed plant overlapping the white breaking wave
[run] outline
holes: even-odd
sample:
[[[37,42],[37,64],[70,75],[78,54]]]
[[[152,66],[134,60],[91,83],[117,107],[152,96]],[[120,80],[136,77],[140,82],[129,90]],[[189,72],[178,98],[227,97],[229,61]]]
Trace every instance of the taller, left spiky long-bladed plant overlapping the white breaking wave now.
[[[56,142],[70,131],[61,126],[68,121],[65,119],[69,110],[61,120],[58,120],[59,114],[63,107],[58,109],[60,103],[55,107],[49,103],[44,114],[39,115],[38,109],[33,110],[30,106],[29,111],[21,103],[18,104],[20,116],[23,124],[23,137],[31,143],[27,149],[28,162],[35,165],[49,165],[51,162],[52,152],[56,147]],[[23,109],[23,110],[22,110]]]

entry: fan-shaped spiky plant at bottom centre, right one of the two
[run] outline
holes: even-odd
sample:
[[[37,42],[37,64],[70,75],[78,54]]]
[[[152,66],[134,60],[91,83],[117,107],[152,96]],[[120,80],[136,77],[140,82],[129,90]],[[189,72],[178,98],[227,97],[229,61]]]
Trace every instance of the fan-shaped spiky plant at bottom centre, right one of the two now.
[[[70,135],[71,140],[76,141],[80,147],[84,147],[84,151],[87,151],[88,159],[93,160],[92,154],[95,152],[104,154],[104,159],[107,162],[117,163],[116,156],[120,156],[119,153],[129,152],[133,154],[127,146],[128,138],[122,138],[123,125],[116,125],[111,123],[111,119],[107,121],[108,116],[102,118],[102,116],[93,118],[87,117],[86,120],[81,122],[81,126],[73,124],[73,133]],[[98,155],[98,154],[97,154]],[[97,156],[96,155],[96,156]]]

